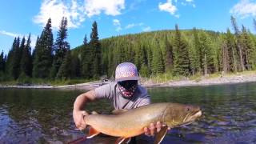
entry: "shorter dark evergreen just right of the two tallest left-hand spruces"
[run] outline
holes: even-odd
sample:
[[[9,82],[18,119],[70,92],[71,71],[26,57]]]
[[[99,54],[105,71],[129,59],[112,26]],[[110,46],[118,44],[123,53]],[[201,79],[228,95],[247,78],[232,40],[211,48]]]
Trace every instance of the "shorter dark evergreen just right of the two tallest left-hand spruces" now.
[[[71,52],[67,49],[65,58],[60,66],[57,78],[67,79],[71,77]]]

